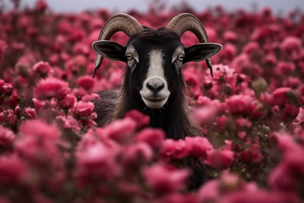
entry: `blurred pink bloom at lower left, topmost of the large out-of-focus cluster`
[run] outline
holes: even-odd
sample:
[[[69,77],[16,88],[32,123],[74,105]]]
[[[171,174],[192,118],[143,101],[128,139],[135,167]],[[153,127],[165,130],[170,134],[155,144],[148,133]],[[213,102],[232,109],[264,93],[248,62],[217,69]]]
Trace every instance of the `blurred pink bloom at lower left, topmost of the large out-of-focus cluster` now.
[[[55,127],[40,120],[27,120],[19,127],[19,132],[24,137],[57,140],[61,132]]]

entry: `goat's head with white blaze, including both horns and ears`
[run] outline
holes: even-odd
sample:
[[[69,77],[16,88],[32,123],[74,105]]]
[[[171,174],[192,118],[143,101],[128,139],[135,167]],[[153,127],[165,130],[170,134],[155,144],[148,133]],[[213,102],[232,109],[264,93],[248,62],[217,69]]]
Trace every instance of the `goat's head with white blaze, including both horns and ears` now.
[[[184,25],[177,28],[175,25],[181,21],[180,18],[186,22],[193,21],[194,25],[183,22]],[[109,36],[118,31],[119,23],[123,24],[122,31],[130,37],[124,46],[109,41]],[[126,23],[129,25],[124,27]],[[173,18],[166,28],[157,30],[143,27],[135,18],[125,14],[110,18],[104,27],[99,40],[92,44],[97,52],[95,70],[100,67],[102,57],[124,61],[127,64],[125,80],[129,81],[128,89],[134,102],[143,102],[151,109],[162,108],[184,91],[181,89],[184,87],[181,73],[184,63],[206,60],[212,75],[210,57],[222,49],[220,44],[209,43],[203,25],[191,14],[181,14]],[[202,43],[183,46],[180,37],[186,30],[197,35]]]

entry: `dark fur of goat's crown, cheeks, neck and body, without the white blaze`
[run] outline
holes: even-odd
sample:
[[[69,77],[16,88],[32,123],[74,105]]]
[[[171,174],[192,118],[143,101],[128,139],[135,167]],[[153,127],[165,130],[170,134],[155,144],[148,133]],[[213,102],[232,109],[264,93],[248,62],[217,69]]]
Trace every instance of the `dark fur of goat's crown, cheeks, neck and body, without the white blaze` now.
[[[164,129],[168,138],[177,140],[186,136],[202,136],[202,130],[189,116],[183,73],[181,70],[177,73],[171,63],[171,55],[182,45],[180,38],[163,27],[157,30],[145,27],[142,33],[130,37],[126,46],[129,44],[133,45],[139,54],[139,63],[132,73],[126,66],[121,89],[101,92],[101,100],[94,100],[98,125],[104,126],[122,118],[126,112],[136,109],[150,115],[150,126]],[[160,49],[165,54],[165,77],[170,96],[167,104],[161,109],[146,108],[139,94],[148,70],[148,53],[152,49]],[[197,188],[206,178],[204,165],[199,160],[189,157],[184,159],[183,163],[193,170],[193,176],[189,179],[189,188]]]

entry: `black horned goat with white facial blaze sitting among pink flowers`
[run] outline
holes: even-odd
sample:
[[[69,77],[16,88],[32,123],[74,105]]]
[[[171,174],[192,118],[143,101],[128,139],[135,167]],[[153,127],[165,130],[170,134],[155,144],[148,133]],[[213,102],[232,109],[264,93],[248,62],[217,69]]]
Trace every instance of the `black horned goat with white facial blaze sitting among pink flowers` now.
[[[118,31],[129,37],[126,45],[109,41]],[[200,43],[183,46],[180,38],[186,31],[193,32]],[[93,77],[103,57],[126,63],[121,88],[101,92],[101,99],[94,101],[99,126],[136,109],[150,115],[150,126],[163,129],[168,138],[177,140],[202,135],[202,130],[190,117],[181,68],[189,61],[206,60],[213,77],[210,57],[219,53],[222,45],[209,43],[198,18],[183,13],[172,18],[167,27],[154,30],[142,26],[130,15],[117,14],[106,21],[92,47],[96,51]],[[197,165],[192,181],[193,185],[200,185],[198,179],[204,178],[203,164],[191,159],[184,161],[186,166]]]

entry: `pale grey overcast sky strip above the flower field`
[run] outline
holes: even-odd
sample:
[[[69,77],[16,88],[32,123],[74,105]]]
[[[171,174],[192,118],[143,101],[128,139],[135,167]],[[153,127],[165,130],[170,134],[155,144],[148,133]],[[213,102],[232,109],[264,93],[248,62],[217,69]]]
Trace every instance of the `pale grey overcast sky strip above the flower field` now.
[[[0,0],[1,1],[1,0]],[[2,0],[3,1],[3,0]],[[36,0],[21,0],[22,4],[32,6]],[[167,2],[168,7],[178,5],[183,0],[160,0]],[[253,2],[256,3],[258,9],[265,6],[272,8],[274,14],[283,11],[285,14],[295,8],[304,10],[304,0],[185,0],[196,11],[222,5],[227,10],[235,10],[236,8],[245,8],[250,10]],[[4,0],[9,4],[9,0]],[[152,0],[47,0],[51,9],[58,12],[81,12],[85,9],[96,9],[98,7],[108,8],[112,12],[127,12],[131,9],[146,11]]]

